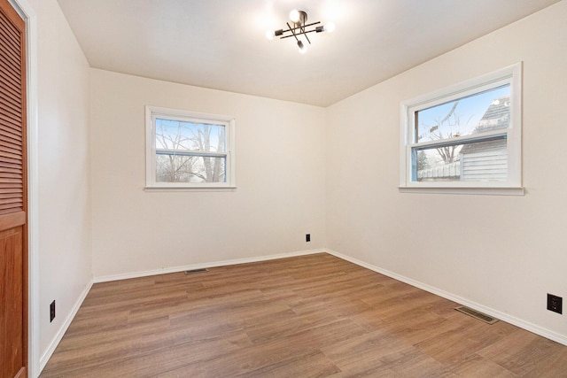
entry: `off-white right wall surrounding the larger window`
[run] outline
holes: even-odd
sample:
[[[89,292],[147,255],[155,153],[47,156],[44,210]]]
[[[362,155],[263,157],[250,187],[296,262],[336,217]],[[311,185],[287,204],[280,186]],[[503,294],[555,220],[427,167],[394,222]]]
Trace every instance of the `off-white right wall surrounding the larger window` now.
[[[329,108],[327,246],[567,340],[567,2]],[[400,193],[400,101],[524,61],[524,197]],[[551,168],[553,166],[553,168]]]

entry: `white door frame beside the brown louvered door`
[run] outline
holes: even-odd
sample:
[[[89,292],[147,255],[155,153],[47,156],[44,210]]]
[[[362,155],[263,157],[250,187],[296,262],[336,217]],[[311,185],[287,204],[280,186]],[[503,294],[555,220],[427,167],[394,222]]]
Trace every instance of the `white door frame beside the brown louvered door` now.
[[[27,0],[8,0],[26,23],[27,90],[27,374],[40,374],[37,17]]]

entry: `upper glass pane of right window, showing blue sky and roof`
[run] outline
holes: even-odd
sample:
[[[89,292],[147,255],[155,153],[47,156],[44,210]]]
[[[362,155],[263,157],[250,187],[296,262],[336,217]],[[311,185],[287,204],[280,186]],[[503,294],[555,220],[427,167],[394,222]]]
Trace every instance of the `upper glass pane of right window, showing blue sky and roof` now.
[[[509,84],[416,112],[415,143],[508,128]]]

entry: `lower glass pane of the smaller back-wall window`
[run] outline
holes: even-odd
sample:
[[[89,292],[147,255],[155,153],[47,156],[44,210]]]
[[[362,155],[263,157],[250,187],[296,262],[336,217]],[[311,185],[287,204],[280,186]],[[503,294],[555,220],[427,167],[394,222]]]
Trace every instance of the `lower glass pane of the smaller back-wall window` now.
[[[162,154],[156,156],[158,182],[225,182],[226,158]]]

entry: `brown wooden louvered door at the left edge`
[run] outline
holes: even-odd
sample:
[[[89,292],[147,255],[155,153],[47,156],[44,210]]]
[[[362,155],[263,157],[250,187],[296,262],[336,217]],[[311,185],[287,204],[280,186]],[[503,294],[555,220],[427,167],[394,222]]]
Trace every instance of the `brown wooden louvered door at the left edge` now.
[[[25,23],[0,0],[0,377],[27,376]]]

